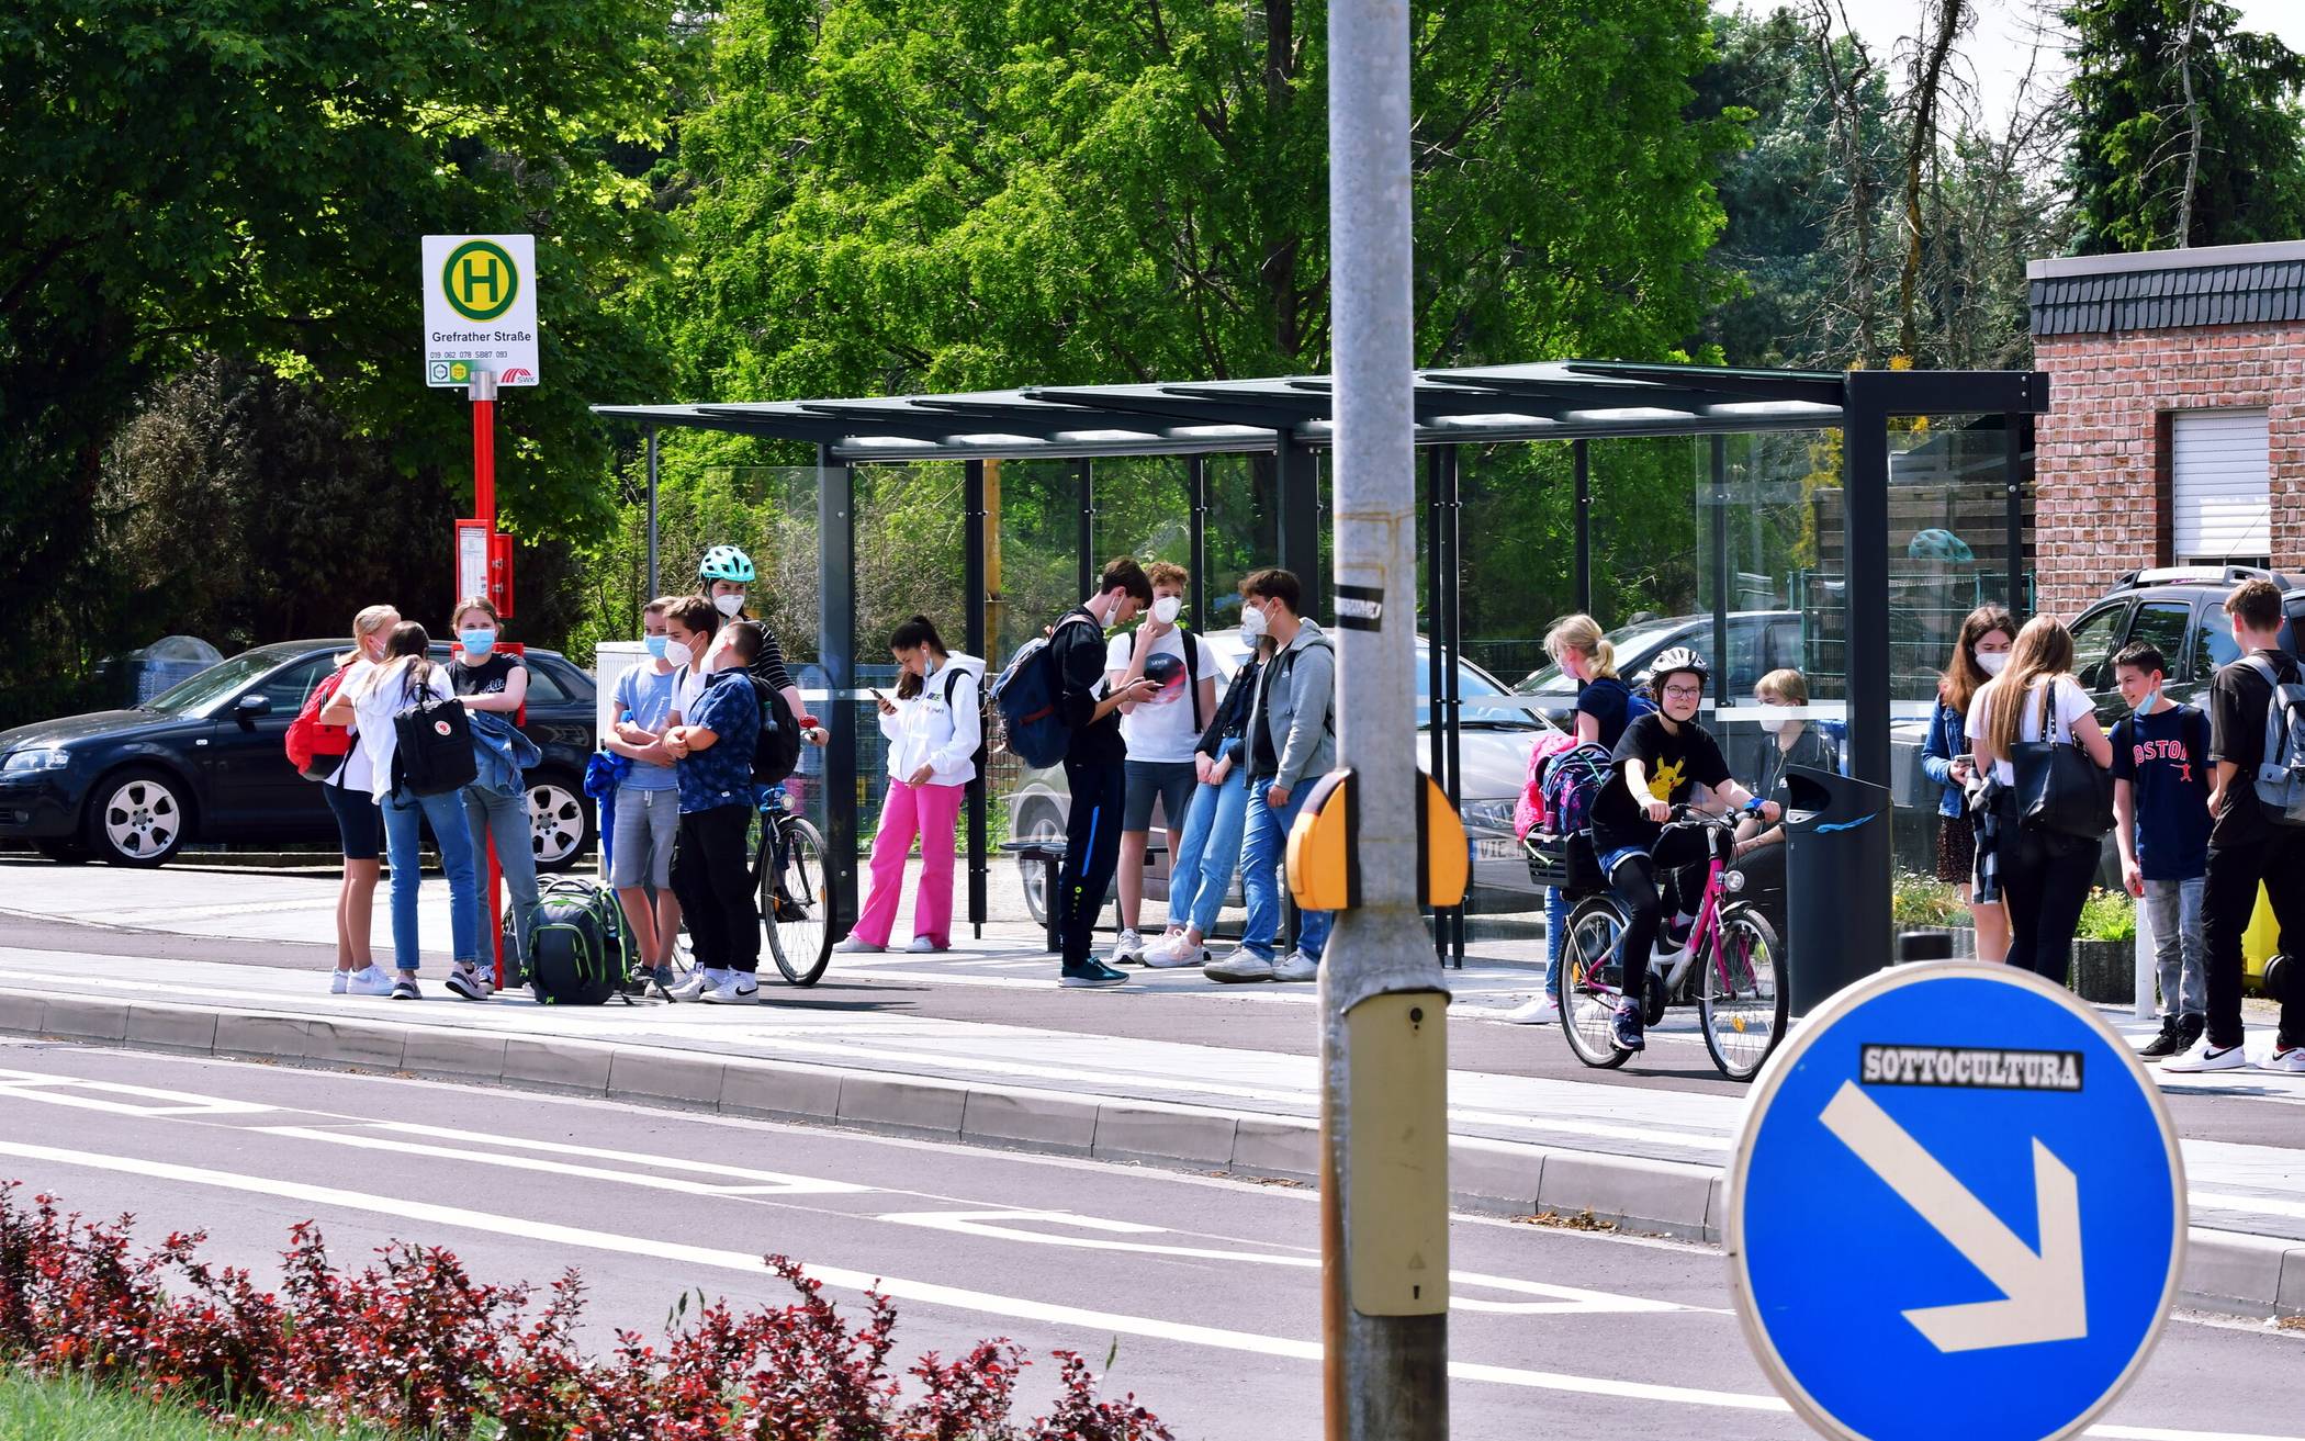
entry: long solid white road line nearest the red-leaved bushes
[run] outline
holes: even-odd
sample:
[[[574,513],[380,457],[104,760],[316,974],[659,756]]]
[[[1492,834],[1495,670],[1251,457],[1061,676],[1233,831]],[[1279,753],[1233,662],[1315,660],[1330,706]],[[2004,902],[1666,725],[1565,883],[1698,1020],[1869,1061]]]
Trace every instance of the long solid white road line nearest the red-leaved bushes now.
[[[459,1227],[466,1231],[482,1231],[491,1236],[514,1236],[521,1240],[542,1240],[567,1247],[620,1252],[629,1257],[655,1257],[659,1261],[710,1266],[717,1270],[738,1270],[747,1275],[763,1275],[768,1270],[758,1257],[745,1252],[708,1250],[701,1245],[682,1245],[678,1240],[659,1240],[652,1236],[618,1236],[613,1231],[556,1227],[551,1222],[539,1222],[523,1215],[491,1215],[484,1210],[466,1210],[461,1206],[440,1206],[433,1201],[403,1201],[399,1197],[373,1197],[366,1192],[348,1192],[327,1185],[307,1185],[300,1180],[235,1176],[231,1171],[210,1171],[203,1167],[180,1167],[173,1162],[157,1162],[129,1155],[104,1155],[95,1150],[62,1150],[58,1146],[30,1146],[23,1141],[0,1141],[0,1155],[14,1155],[21,1160],[44,1160],[60,1167],[85,1167],[92,1171],[145,1176],[157,1180],[182,1180],[187,1185],[251,1192],[288,1201],[307,1201],[311,1206],[364,1210],[403,1222],[431,1222],[438,1227]],[[1300,1342],[1293,1337],[1259,1335],[1254,1330],[1226,1330],[1219,1326],[1194,1326],[1187,1321],[1159,1321],[1152,1316],[1129,1316],[1120,1312],[1097,1312],[1076,1305],[1056,1305],[1046,1300],[1023,1300],[1019,1296],[996,1296],[991,1291],[970,1291],[963,1287],[943,1287],[936,1282],[876,1277],[864,1270],[848,1270],[841,1266],[811,1266],[807,1261],[802,1261],[802,1266],[807,1268],[809,1275],[814,1275],[827,1287],[837,1287],[841,1291],[881,1291],[890,1300],[943,1305],[963,1312],[1005,1316],[1012,1321],[1046,1321],[1051,1326],[1076,1326],[1104,1335],[1120,1333],[1148,1340],[1182,1342],[1192,1346],[1247,1351],[1254,1356],[1321,1360],[1321,1342]],[[1452,1360],[1448,1370],[1450,1376],[1459,1381],[1489,1381],[1496,1386],[1521,1386],[1531,1390],[1565,1390],[1577,1395],[1604,1395],[1632,1402],[1664,1402],[1678,1406],[1710,1406],[1722,1411],[1775,1411],[1775,1413],[1791,1411],[1791,1406],[1786,1406],[1782,1397],[1752,1395],[1738,1390],[1657,1386],[1648,1381],[1620,1381],[1614,1376],[1570,1376],[1563,1372],[1533,1372],[1505,1365],[1480,1365],[1471,1360]],[[2157,1427],[2095,1427],[2091,1434],[2111,1436],[2114,1441],[2300,1441],[2298,1436],[2257,1436],[2257,1434],[2243,1436],[2231,1432],[2178,1432]]]

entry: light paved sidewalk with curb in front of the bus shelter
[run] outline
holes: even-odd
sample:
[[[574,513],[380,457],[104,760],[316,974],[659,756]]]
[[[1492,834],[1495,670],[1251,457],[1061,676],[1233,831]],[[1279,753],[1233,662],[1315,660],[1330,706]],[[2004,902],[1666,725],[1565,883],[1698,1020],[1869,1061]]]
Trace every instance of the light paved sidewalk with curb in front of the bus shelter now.
[[[83,876],[122,878],[46,876],[71,876],[62,892]],[[88,913],[28,906],[23,878],[0,869],[0,911]],[[742,1010],[546,1010],[526,994],[470,1005],[438,984],[408,1005],[332,998],[327,952],[277,941],[281,918],[332,897],[327,883],[300,883],[323,897],[281,881],[219,888],[210,876],[201,904],[187,904],[164,895],[180,888],[138,881],[108,906],[138,929],[16,927],[41,938],[0,943],[0,1031],[459,1074],[1173,1167],[1316,1171],[1312,987],[1219,987],[1185,971],[1136,973],[1118,994],[1058,991],[1037,936],[1000,927],[947,957],[837,957],[825,987],[768,980],[770,1003]],[[1678,1012],[1646,1058],[1662,1074],[1560,1065],[1558,1031],[1496,1021],[1533,982],[1531,966],[1510,961],[1450,975],[1452,1056],[1491,1058],[1450,1074],[1459,1199],[1514,1213],[1590,1208],[1717,1238],[1720,1174],[1745,1091],[1701,1074],[1703,1047]],[[920,1014],[931,1005],[968,1019]],[[2137,1033],[2121,1012],[2107,1019]],[[1249,1044],[1226,1044],[1233,1035]],[[1512,1074],[1547,1067],[1554,1074]],[[2305,1310],[2305,1077],[2169,1077],[2164,1093],[2187,1137],[2197,1227],[2187,1293],[2250,1312]]]

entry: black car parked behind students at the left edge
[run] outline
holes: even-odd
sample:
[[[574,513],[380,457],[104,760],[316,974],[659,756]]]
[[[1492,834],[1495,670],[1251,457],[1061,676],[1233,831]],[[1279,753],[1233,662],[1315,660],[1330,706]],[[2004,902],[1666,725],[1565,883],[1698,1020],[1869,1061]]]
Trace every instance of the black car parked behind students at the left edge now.
[[[284,735],[343,646],[258,646],[134,710],[0,731],[0,839],[138,867],[164,865],[187,842],[334,839],[327,800],[288,765]],[[447,646],[433,648],[436,662],[447,657]],[[592,842],[592,678],[553,650],[526,659],[526,731],[544,752],[528,772],[537,865],[565,869]]]

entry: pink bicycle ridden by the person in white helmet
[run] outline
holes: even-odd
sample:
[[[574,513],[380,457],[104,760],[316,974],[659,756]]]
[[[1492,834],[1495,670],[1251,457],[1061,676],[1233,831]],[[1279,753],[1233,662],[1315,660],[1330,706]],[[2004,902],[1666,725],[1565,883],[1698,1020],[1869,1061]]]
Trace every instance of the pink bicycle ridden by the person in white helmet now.
[[[1722,885],[1736,821],[1673,807],[1667,830],[1706,832],[1706,883],[1690,938],[1664,950],[1662,931],[1657,936],[1641,1014],[1655,1026],[1667,1005],[1694,998],[1713,1065],[1733,1081],[1749,1081],[1784,1038],[1786,991],[1775,927],[1749,901],[1731,899]],[[1620,948],[1627,920],[1614,895],[1588,895],[1570,911],[1560,943],[1560,1031],[1577,1058],[1597,1070],[1614,1070],[1632,1058],[1609,1033],[1609,1019],[1625,994]]]

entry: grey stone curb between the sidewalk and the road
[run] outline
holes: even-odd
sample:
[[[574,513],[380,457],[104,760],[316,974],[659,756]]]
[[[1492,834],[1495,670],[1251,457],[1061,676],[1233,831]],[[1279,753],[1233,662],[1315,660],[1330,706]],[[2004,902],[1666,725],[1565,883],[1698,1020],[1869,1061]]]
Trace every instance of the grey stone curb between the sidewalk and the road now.
[[[0,991],[0,1035],[496,1081],[749,1121],[1182,1171],[1295,1183],[1312,1183],[1321,1171],[1321,1127],[1302,1116],[973,1086],[756,1056],[32,991]],[[1726,1178],[1717,1167],[1450,1137],[1450,1199],[1461,1210],[1489,1215],[1590,1213],[1630,1231],[1720,1245]],[[2305,1240],[2194,1227],[2178,1300],[2236,1316],[2305,1314]]]

